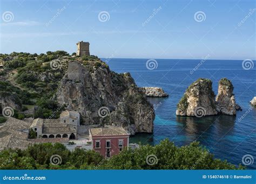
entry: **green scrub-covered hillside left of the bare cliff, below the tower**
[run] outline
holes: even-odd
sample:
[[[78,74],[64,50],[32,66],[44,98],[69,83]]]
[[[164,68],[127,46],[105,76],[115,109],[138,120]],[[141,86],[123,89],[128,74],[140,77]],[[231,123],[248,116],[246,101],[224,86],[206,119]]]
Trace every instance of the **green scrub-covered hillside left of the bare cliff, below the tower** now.
[[[68,68],[70,60],[92,62],[99,67],[106,65],[97,56],[72,56],[65,51],[48,51],[46,54],[17,53],[0,54],[0,63],[4,70],[0,71],[0,95],[16,99],[19,105],[37,105],[35,118],[58,118],[60,104],[52,100],[58,89],[60,80]],[[63,109],[64,107],[62,107]],[[55,112],[55,113],[53,113]],[[19,118],[22,118],[19,115]]]

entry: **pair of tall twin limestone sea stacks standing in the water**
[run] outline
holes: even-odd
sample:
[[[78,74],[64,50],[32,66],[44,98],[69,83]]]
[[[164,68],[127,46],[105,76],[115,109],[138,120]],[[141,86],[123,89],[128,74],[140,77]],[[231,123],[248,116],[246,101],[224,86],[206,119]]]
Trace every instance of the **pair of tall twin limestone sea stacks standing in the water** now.
[[[234,116],[241,108],[235,103],[233,89],[230,80],[221,79],[215,101],[212,81],[200,78],[187,88],[186,93],[177,104],[176,115],[203,117],[225,114]]]

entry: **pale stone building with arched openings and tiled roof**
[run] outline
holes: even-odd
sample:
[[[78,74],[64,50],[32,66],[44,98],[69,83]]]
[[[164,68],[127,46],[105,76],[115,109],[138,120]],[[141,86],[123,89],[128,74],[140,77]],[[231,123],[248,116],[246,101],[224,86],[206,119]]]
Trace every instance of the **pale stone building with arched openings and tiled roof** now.
[[[37,138],[77,139],[79,122],[78,112],[65,110],[59,119],[34,119],[30,129],[36,132]]]

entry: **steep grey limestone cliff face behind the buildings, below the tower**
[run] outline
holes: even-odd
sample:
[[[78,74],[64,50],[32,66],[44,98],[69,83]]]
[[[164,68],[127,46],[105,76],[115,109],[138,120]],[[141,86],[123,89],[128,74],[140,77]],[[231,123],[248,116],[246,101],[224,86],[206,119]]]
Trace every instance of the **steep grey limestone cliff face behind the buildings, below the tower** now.
[[[152,105],[129,73],[114,73],[104,62],[70,61],[55,98],[78,111],[85,124],[123,126],[131,135],[152,132]]]

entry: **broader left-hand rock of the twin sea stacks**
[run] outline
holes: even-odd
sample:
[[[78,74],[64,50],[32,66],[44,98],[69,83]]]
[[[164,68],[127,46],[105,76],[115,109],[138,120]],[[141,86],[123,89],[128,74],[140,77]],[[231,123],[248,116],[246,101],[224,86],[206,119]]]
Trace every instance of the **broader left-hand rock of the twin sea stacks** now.
[[[212,90],[212,81],[198,79],[187,88],[184,96],[177,104],[177,116],[210,116],[217,115]]]

